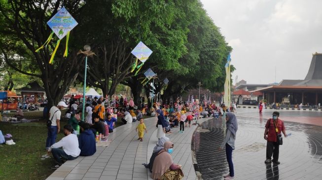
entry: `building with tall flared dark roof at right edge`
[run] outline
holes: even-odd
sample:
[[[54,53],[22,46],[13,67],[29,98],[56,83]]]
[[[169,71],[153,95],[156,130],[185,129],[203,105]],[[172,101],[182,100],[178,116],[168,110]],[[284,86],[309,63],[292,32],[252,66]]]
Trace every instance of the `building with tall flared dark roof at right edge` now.
[[[283,80],[277,85],[253,90],[260,91],[268,103],[319,105],[322,104],[322,54],[315,53],[304,80]]]

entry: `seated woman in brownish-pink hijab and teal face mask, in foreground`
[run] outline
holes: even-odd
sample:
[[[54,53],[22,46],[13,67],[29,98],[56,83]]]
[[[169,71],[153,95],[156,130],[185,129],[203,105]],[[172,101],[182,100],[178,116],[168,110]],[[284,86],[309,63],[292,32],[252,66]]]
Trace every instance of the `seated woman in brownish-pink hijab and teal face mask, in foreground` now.
[[[173,163],[173,143],[165,142],[154,159],[151,178],[154,180],[181,180],[183,177],[181,165]]]

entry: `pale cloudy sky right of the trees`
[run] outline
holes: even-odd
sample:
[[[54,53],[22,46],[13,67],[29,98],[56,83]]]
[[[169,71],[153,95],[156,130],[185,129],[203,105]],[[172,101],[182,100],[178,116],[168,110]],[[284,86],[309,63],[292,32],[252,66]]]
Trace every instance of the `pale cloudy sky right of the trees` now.
[[[322,53],[322,0],[201,0],[233,48],[233,85],[304,79]]]

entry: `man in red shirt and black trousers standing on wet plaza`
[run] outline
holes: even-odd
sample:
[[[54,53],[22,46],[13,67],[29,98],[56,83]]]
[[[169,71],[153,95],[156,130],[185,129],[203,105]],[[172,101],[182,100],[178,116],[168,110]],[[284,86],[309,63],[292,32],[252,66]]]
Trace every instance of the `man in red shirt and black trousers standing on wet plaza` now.
[[[267,120],[265,125],[264,139],[267,140],[266,146],[266,160],[265,163],[280,164],[279,152],[280,145],[277,143],[277,134],[283,132],[284,136],[287,137],[285,132],[285,126],[283,120],[279,119],[280,113],[277,111],[273,112],[273,118]],[[271,160],[273,154],[273,160]]]

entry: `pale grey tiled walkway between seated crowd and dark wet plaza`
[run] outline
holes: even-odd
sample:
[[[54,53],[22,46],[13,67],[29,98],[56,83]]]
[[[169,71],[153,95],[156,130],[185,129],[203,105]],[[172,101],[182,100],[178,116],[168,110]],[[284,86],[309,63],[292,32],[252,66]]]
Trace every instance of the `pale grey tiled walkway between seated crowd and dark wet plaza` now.
[[[199,122],[209,120],[201,119]],[[98,147],[92,156],[67,161],[46,180],[148,180],[150,172],[142,165],[151,157],[156,138],[157,118],[145,119],[148,133],[143,142],[138,139],[135,128],[139,122],[117,127],[108,137],[110,145]],[[191,137],[197,125],[187,127],[184,133],[172,128],[174,133],[166,136],[174,143],[174,162],[182,165],[183,180],[196,180],[192,164]]]

